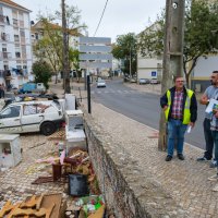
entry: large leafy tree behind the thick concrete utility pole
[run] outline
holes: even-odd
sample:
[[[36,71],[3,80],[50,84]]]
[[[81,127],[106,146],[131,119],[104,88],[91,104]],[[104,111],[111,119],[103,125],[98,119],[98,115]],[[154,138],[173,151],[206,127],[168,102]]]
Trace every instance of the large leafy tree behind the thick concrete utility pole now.
[[[164,13],[158,16],[156,29],[140,35],[138,47],[143,56],[159,56],[164,50]],[[202,56],[217,53],[218,1],[187,0],[185,7],[183,71],[189,86],[190,75]]]

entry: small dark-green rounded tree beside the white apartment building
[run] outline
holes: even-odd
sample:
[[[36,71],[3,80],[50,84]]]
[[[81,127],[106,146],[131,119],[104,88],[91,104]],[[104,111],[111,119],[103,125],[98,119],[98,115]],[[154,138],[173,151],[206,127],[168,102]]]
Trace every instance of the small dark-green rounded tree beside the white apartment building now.
[[[35,75],[35,83],[44,83],[46,89],[49,88],[48,82],[51,78],[52,69],[49,63],[45,61],[37,61],[33,64],[33,73]]]

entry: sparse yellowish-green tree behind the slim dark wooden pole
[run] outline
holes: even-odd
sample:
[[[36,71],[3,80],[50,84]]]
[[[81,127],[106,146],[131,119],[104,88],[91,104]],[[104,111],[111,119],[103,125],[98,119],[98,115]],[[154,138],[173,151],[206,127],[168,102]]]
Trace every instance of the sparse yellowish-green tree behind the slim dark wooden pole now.
[[[72,36],[78,36],[80,32],[86,28],[85,24],[81,24],[81,11],[76,7],[65,5],[66,14],[66,35],[68,44],[71,43]],[[61,21],[61,12],[57,11],[55,14],[49,14],[47,17],[39,16],[41,22],[43,38],[34,47],[34,53],[39,60],[44,60],[50,63],[56,75],[61,71],[63,65],[63,35],[62,27],[57,23]],[[73,57],[75,56],[75,57]],[[69,60],[71,66],[78,65],[78,51],[73,47],[69,49]],[[77,62],[76,62],[77,61]],[[76,68],[77,69],[77,68]],[[57,82],[57,80],[56,80]]]

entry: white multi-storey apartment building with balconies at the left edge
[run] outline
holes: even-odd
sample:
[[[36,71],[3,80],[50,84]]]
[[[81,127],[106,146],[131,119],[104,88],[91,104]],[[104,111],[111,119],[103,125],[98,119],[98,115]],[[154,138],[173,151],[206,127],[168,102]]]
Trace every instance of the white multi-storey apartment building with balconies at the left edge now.
[[[32,71],[31,11],[10,0],[0,1],[0,77],[11,72],[13,81]],[[17,86],[17,82],[16,82]]]

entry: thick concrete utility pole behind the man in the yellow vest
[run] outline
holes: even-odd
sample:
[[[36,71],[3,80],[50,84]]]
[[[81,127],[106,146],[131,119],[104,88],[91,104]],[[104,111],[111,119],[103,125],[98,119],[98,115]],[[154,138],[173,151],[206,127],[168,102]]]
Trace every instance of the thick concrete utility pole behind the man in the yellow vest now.
[[[162,64],[161,94],[173,86],[174,76],[183,76],[185,0],[166,0],[165,49]],[[159,122],[158,148],[167,148],[167,125],[161,111]]]

